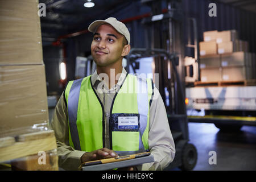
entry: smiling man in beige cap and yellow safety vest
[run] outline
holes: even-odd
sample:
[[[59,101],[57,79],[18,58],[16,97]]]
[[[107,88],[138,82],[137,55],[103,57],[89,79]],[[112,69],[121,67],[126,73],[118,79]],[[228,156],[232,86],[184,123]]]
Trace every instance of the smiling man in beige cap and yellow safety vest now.
[[[127,27],[108,18],[94,21],[88,30],[94,34],[91,51],[97,69],[68,82],[51,122],[59,166],[77,169],[82,162],[146,150],[154,163],[125,169],[162,170],[174,159],[174,140],[152,80],[127,74],[122,67],[130,52]]]

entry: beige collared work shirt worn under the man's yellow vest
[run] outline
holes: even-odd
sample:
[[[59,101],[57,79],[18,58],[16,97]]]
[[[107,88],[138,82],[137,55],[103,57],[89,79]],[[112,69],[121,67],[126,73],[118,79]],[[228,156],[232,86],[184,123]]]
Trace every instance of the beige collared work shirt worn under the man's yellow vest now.
[[[126,70],[122,69],[122,75],[126,76]],[[118,92],[125,76],[120,76],[116,85],[110,90],[104,80],[97,74],[97,70],[92,75],[92,85],[96,90],[104,106],[105,114],[105,147],[110,148],[109,138],[109,115],[110,107],[116,92]],[[105,90],[106,89],[106,90]],[[99,92],[100,91],[100,92]],[[67,106],[64,95],[61,94],[55,107],[55,112],[51,121],[51,127],[55,130],[57,151],[59,155],[59,167],[68,170],[76,170],[81,165],[81,156],[85,151],[75,150],[69,146],[69,131]],[[170,126],[168,124],[166,108],[158,89],[154,88],[154,97],[150,106],[150,121],[148,133],[148,147],[151,155],[154,156],[154,163],[146,163],[137,166],[139,170],[163,170],[174,160],[175,144],[172,138]]]

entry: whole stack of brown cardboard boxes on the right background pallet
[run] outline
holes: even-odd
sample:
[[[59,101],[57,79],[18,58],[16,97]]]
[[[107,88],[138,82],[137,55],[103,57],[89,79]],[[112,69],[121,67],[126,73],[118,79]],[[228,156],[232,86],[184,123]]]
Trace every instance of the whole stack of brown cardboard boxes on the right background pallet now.
[[[254,54],[236,30],[204,32],[200,42],[201,81],[242,81],[255,78]]]

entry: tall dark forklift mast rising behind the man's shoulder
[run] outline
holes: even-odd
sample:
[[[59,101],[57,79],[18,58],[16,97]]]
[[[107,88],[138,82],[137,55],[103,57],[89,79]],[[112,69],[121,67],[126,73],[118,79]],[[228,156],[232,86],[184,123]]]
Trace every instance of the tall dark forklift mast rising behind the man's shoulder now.
[[[170,127],[181,131],[183,139],[188,140],[187,111],[185,107],[185,69],[184,69],[184,16],[181,1],[150,1],[142,3],[151,7],[151,17],[144,18],[146,49],[154,56],[155,73],[158,73],[158,90],[166,106]],[[163,13],[163,5],[168,6],[167,13]],[[135,49],[130,52],[134,54]],[[150,51],[147,51],[147,55]],[[142,53],[141,53],[142,55]],[[149,55],[148,55],[149,56]],[[130,56],[128,56],[130,57]],[[128,62],[133,62],[129,60]],[[178,121],[176,122],[174,121]]]

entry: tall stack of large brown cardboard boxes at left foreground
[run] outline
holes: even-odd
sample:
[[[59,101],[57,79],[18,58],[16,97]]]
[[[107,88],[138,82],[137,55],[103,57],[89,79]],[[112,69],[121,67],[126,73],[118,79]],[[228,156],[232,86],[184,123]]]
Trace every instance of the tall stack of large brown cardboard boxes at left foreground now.
[[[0,1],[0,131],[48,122],[38,1]]]

